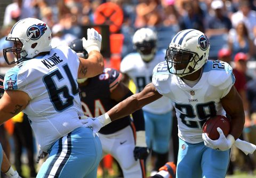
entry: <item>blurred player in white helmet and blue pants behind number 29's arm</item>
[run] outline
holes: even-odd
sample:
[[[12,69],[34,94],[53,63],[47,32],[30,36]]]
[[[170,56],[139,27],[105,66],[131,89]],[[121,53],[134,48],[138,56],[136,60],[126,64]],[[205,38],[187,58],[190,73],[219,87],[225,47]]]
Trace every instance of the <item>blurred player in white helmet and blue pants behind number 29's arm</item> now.
[[[141,28],[133,35],[133,45],[137,52],[128,54],[121,62],[120,70],[124,82],[132,79],[137,93],[151,83],[152,71],[157,63],[164,61],[165,52],[156,51],[157,36],[150,28]],[[168,161],[169,141],[172,129],[172,104],[165,96],[143,109],[145,118],[146,143],[153,150],[154,175]],[[163,132],[164,130],[164,132]]]

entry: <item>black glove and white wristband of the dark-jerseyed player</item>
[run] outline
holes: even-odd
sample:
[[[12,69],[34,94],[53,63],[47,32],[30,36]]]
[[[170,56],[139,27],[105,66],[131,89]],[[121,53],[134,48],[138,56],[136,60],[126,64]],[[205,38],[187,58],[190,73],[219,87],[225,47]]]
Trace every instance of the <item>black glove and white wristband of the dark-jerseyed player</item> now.
[[[148,157],[149,150],[146,144],[145,131],[136,132],[136,144],[133,150],[134,159],[146,159]]]

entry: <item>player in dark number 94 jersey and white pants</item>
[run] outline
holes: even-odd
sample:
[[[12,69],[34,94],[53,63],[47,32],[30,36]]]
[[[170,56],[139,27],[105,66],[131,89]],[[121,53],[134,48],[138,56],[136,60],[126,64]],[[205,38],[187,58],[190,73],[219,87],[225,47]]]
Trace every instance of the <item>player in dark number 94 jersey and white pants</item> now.
[[[69,47],[78,56],[87,58],[82,39],[76,39]],[[92,78],[78,78],[82,109],[85,116],[98,117],[133,93],[121,82],[122,75],[115,69],[105,68]],[[141,109],[130,116],[102,127],[98,133],[104,157],[112,155],[122,168],[124,177],[145,177],[143,159],[148,149],[145,139],[145,122]],[[135,128],[134,128],[135,126]],[[133,155],[133,157],[131,156]]]

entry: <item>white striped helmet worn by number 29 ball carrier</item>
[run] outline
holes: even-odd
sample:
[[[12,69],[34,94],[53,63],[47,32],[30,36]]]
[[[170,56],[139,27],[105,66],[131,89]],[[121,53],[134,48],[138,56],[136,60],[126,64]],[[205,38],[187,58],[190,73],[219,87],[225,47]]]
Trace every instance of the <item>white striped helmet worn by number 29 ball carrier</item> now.
[[[179,77],[194,73],[207,62],[209,50],[209,40],[201,31],[180,31],[166,50],[165,60],[169,72]]]

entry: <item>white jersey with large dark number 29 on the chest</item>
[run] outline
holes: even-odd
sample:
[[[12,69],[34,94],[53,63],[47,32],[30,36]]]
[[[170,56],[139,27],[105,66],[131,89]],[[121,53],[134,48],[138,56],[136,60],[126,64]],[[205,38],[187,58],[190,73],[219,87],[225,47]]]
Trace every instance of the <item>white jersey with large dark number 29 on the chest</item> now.
[[[189,87],[167,71],[166,62],[161,62],[153,71],[152,82],[159,93],[172,100],[179,137],[189,143],[199,143],[203,141],[202,126],[206,118],[226,115],[220,99],[229,93],[235,77],[228,63],[208,61],[198,83]]]

